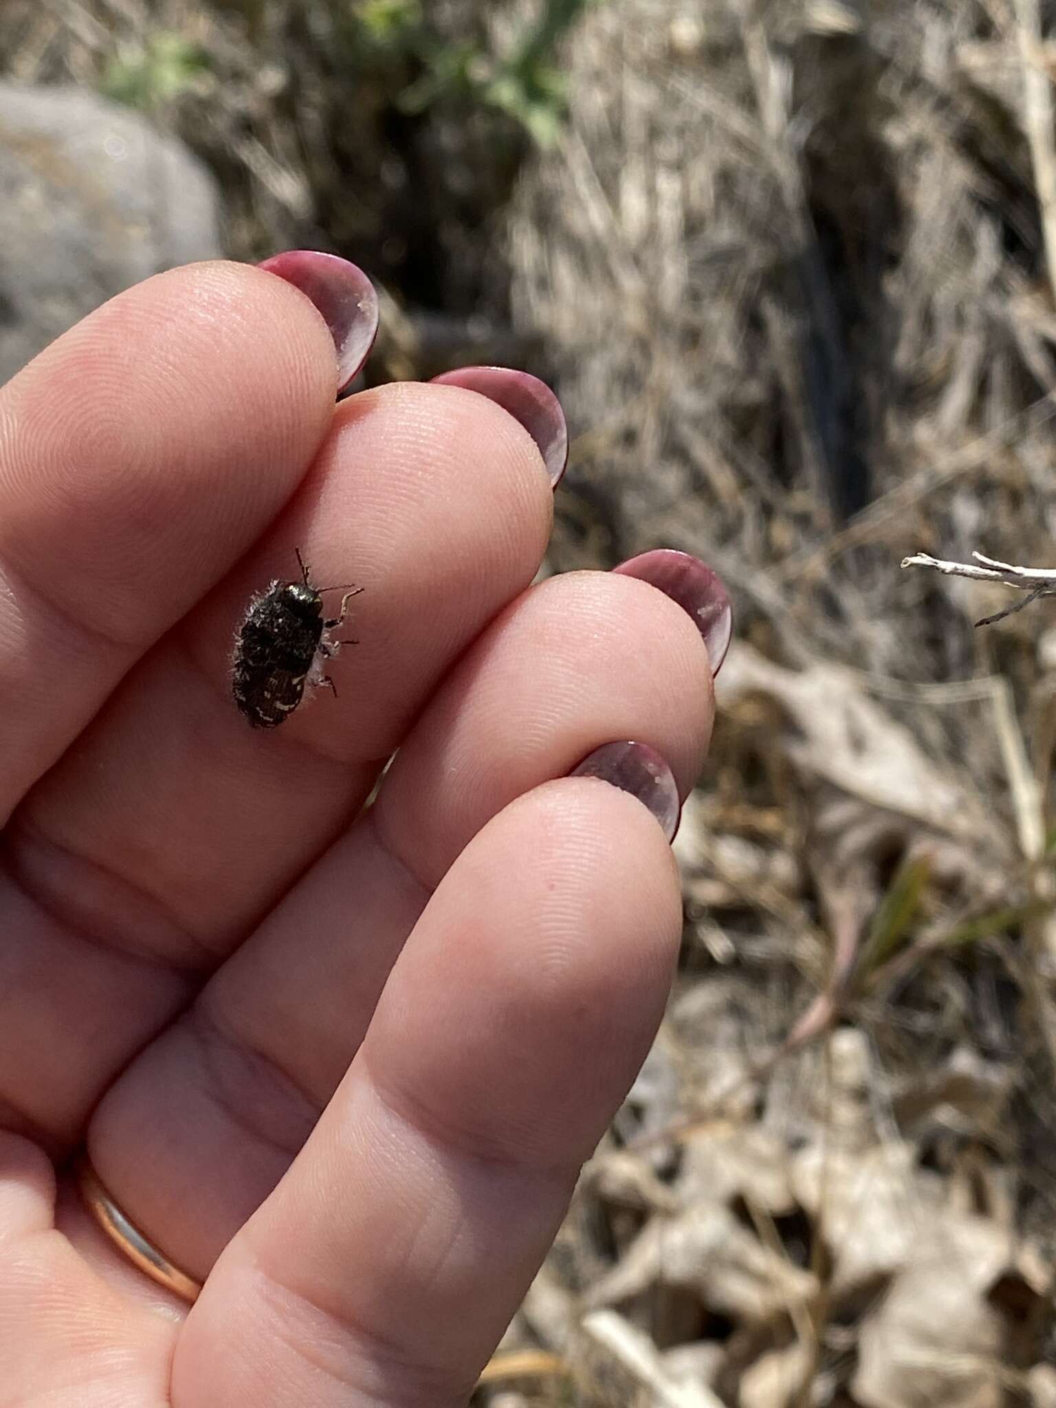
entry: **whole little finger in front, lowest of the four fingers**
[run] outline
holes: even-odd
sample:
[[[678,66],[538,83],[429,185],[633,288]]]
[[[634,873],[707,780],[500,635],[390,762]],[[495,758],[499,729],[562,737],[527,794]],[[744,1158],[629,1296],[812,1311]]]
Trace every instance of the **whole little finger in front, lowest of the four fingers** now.
[[[648,1050],[680,931],[665,836],[617,788],[552,783],[490,822],[191,1311],[175,1408],[465,1404]]]

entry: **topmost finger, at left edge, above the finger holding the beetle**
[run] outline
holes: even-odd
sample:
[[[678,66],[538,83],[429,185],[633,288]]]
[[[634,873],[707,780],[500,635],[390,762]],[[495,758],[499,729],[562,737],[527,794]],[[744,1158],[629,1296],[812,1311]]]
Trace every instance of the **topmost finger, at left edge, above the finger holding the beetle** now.
[[[0,824],[290,496],[335,380],[300,293],[215,263],[121,294],[0,390]]]

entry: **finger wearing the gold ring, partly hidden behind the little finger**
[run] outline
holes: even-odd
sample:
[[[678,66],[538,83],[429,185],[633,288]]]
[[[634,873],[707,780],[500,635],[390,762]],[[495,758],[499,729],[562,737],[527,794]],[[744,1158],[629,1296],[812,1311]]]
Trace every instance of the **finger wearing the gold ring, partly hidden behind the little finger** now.
[[[369,817],[107,1093],[93,1162],[182,1267],[203,1277],[282,1177],[436,880],[491,817],[618,736],[670,759],[689,790],[712,719],[694,620],[617,574],[553,577],[520,598],[445,681]],[[674,779],[667,791],[629,752],[610,776],[632,786],[636,772],[673,835]],[[218,1166],[222,1188],[189,1219]]]

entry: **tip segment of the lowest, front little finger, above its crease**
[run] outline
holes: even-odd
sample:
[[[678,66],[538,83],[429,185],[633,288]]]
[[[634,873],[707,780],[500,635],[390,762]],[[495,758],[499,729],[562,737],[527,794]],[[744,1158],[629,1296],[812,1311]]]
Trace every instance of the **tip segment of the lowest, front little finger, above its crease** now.
[[[375,1012],[370,1070],[463,1150],[572,1164],[645,1059],[680,935],[677,866],[641,801],[593,777],[536,787],[434,894]]]

